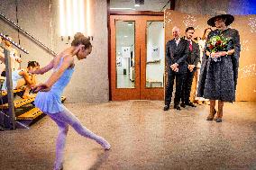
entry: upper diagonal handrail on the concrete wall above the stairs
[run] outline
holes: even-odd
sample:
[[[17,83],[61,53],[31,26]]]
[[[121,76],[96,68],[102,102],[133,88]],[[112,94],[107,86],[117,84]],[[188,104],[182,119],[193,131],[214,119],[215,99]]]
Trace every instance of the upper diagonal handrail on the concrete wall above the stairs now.
[[[54,57],[57,56],[57,53],[54,52],[52,49],[50,49],[49,47],[47,47],[45,44],[43,44],[40,40],[37,40],[36,38],[34,38],[34,36],[32,36],[31,33],[25,31],[23,28],[21,28],[17,23],[11,21],[9,18],[7,18],[3,13],[0,13],[0,17],[5,19],[5,22],[9,22],[12,26],[14,26],[15,28],[19,29],[20,31],[23,31],[23,33],[25,35],[27,35],[28,37],[30,37],[32,40],[34,40],[36,43],[40,44],[44,49],[47,49],[47,51],[53,55]]]

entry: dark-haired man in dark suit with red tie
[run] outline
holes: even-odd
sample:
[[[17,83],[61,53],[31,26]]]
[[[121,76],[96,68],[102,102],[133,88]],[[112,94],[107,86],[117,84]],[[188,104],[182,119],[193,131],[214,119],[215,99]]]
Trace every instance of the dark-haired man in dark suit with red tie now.
[[[186,107],[186,105],[191,107],[197,107],[194,103],[191,103],[189,100],[190,92],[191,92],[191,85],[193,82],[193,77],[195,75],[195,72],[197,70],[197,64],[200,60],[200,50],[199,46],[196,42],[194,42],[192,39],[194,37],[195,29],[193,27],[187,27],[186,29],[186,36],[185,39],[188,42],[188,57],[186,59],[186,67],[187,67],[187,73],[184,77],[184,82],[182,86],[182,96],[181,96],[181,107]]]

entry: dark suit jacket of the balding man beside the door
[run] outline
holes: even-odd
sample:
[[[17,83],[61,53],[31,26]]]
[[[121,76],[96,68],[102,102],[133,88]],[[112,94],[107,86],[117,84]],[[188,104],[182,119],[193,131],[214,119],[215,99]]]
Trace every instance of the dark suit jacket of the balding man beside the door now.
[[[188,55],[188,43],[187,40],[180,39],[178,46],[176,41],[169,40],[166,44],[166,60],[168,65],[168,70],[171,71],[170,66],[177,63],[178,64],[178,74],[183,74],[187,72],[186,59]]]

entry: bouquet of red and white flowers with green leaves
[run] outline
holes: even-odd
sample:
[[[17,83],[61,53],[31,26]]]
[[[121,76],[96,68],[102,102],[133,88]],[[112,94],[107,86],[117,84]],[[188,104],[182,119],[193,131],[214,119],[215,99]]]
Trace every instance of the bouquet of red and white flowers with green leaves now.
[[[210,52],[227,51],[227,45],[230,38],[224,38],[222,35],[215,35],[207,41],[207,49]],[[213,58],[215,61],[219,61],[220,58]]]

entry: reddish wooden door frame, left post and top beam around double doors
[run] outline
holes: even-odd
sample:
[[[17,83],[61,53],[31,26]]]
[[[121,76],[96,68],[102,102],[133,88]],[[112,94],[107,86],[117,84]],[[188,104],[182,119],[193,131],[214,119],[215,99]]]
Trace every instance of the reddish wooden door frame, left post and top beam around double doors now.
[[[149,11],[134,11],[134,12],[123,12],[123,11],[111,11],[109,8],[109,1],[107,3],[107,30],[108,30],[108,80],[109,80],[109,101],[112,101],[112,81],[111,81],[111,69],[115,67],[111,63],[111,29],[110,29],[110,15],[151,15],[151,16],[162,16],[163,12],[149,12]],[[146,48],[145,48],[146,49]],[[141,81],[141,80],[140,80]],[[164,85],[164,83],[163,83]],[[163,90],[164,91],[164,90]]]

